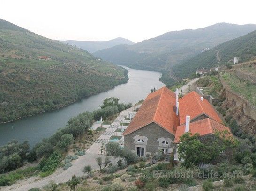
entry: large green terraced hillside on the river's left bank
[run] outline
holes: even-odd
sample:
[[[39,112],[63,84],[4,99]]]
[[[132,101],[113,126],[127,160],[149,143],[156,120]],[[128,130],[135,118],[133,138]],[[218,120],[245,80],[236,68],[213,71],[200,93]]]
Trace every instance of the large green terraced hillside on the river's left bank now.
[[[119,66],[0,19],[0,122],[57,109],[127,80]]]

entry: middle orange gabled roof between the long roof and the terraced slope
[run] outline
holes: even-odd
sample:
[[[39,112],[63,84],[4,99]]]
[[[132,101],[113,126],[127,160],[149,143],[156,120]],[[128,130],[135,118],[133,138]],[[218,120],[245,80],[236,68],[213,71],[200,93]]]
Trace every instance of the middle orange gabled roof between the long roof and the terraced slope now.
[[[196,92],[190,92],[179,99],[179,116],[180,124],[186,122],[186,115],[190,115],[190,120],[195,119],[203,114],[212,120],[222,123],[216,111],[211,104],[206,100],[200,100],[200,95]]]

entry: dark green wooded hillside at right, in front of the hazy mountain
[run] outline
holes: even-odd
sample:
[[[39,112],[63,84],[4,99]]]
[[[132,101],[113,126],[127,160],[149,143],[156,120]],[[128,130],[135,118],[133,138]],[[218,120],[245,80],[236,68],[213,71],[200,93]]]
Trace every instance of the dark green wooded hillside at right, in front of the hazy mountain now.
[[[219,61],[217,60],[217,51]],[[198,68],[208,68],[233,63],[233,58],[239,57],[239,62],[248,61],[256,57],[256,30],[233,40],[224,42],[213,50],[203,52],[172,68],[172,73],[181,78],[188,77],[195,73]]]

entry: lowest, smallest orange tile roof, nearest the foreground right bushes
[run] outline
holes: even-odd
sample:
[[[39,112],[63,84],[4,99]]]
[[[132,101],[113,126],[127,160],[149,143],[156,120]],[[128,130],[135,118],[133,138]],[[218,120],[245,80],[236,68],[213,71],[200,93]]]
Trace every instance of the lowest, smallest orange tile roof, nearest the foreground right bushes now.
[[[196,133],[202,135],[206,134],[214,134],[215,131],[224,131],[227,130],[230,133],[228,127],[221,125],[220,123],[216,122],[215,120],[211,120],[209,118],[198,120],[189,125],[189,132],[194,135]],[[180,137],[185,132],[185,124],[177,127],[174,143],[180,142]]]

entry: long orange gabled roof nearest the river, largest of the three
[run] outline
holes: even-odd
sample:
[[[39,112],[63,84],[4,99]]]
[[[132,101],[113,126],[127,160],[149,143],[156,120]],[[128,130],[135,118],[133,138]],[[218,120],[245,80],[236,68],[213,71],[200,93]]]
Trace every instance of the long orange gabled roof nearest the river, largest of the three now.
[[[175,135],[179,117],[174,110],[176,94],[166,87],[150,93],[130,122],[124,135],[130,134],[152,122]]]

